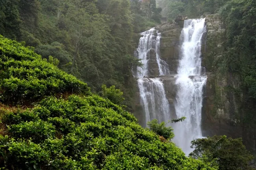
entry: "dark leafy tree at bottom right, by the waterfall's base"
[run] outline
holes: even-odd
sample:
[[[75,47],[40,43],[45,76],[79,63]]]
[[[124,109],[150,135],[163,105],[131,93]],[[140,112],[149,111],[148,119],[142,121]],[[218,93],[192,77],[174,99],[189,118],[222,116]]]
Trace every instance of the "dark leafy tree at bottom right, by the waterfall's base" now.
[[[215,159],[219,170],[250,169],[248,163],[253,156],[246,150],[241,138],[232,139],[226,136],[213,136],[191,141],[195,150],[190,157],[211,162]]]

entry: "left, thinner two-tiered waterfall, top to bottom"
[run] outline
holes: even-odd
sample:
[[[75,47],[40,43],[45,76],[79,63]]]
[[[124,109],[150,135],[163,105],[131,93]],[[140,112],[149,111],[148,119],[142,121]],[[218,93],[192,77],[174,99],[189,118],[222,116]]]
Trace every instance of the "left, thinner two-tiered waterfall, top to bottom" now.
[[[169,102],[166,98],[163,82],[158,77],[170,73],[167,63],[160,57],[161,33],[158,33],[155,28],[151,28],[141,35],[135,54],[141,59],[143,67],[137,67],[134,76],[138,78],[145,124],[154,118],[162,122],[169,120]]]

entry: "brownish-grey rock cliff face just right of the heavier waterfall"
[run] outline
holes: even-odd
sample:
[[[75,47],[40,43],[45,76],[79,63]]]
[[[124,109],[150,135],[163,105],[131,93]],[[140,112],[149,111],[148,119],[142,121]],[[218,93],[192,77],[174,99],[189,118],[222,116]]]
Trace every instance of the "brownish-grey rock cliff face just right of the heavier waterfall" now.
[[[225,27],[217,14],[206,15],[207,33],[202,47],[202,66],[208,80],[202,111],[203,135],[227,135],[241,137],[238,107],[239,96],[233,89],[239,88],[239,79],[221,66],[225,43]]]

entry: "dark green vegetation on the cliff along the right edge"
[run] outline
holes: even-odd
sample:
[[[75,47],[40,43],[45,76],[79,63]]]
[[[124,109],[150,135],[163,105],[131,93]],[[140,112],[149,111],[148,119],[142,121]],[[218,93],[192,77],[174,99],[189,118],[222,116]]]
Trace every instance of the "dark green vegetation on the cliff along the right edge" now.
[[[226,71],[241,79],[241,87],[234,89],[241,98],[241,123],[256,134],[256,2],[232,0],[221,8],[226,25]],[[255,137],[253,138],[255,140]]]

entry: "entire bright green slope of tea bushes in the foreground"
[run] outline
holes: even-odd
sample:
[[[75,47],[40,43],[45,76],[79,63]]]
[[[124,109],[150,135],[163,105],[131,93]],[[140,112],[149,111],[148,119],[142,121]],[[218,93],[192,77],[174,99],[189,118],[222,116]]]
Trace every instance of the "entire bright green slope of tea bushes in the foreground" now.
[[[4,37],[0,44],[1,169],[217,169],[161,141],[132,114],[92,94],[30,47]],[[121,95],[102,86],[104,94],[113,91]]]

